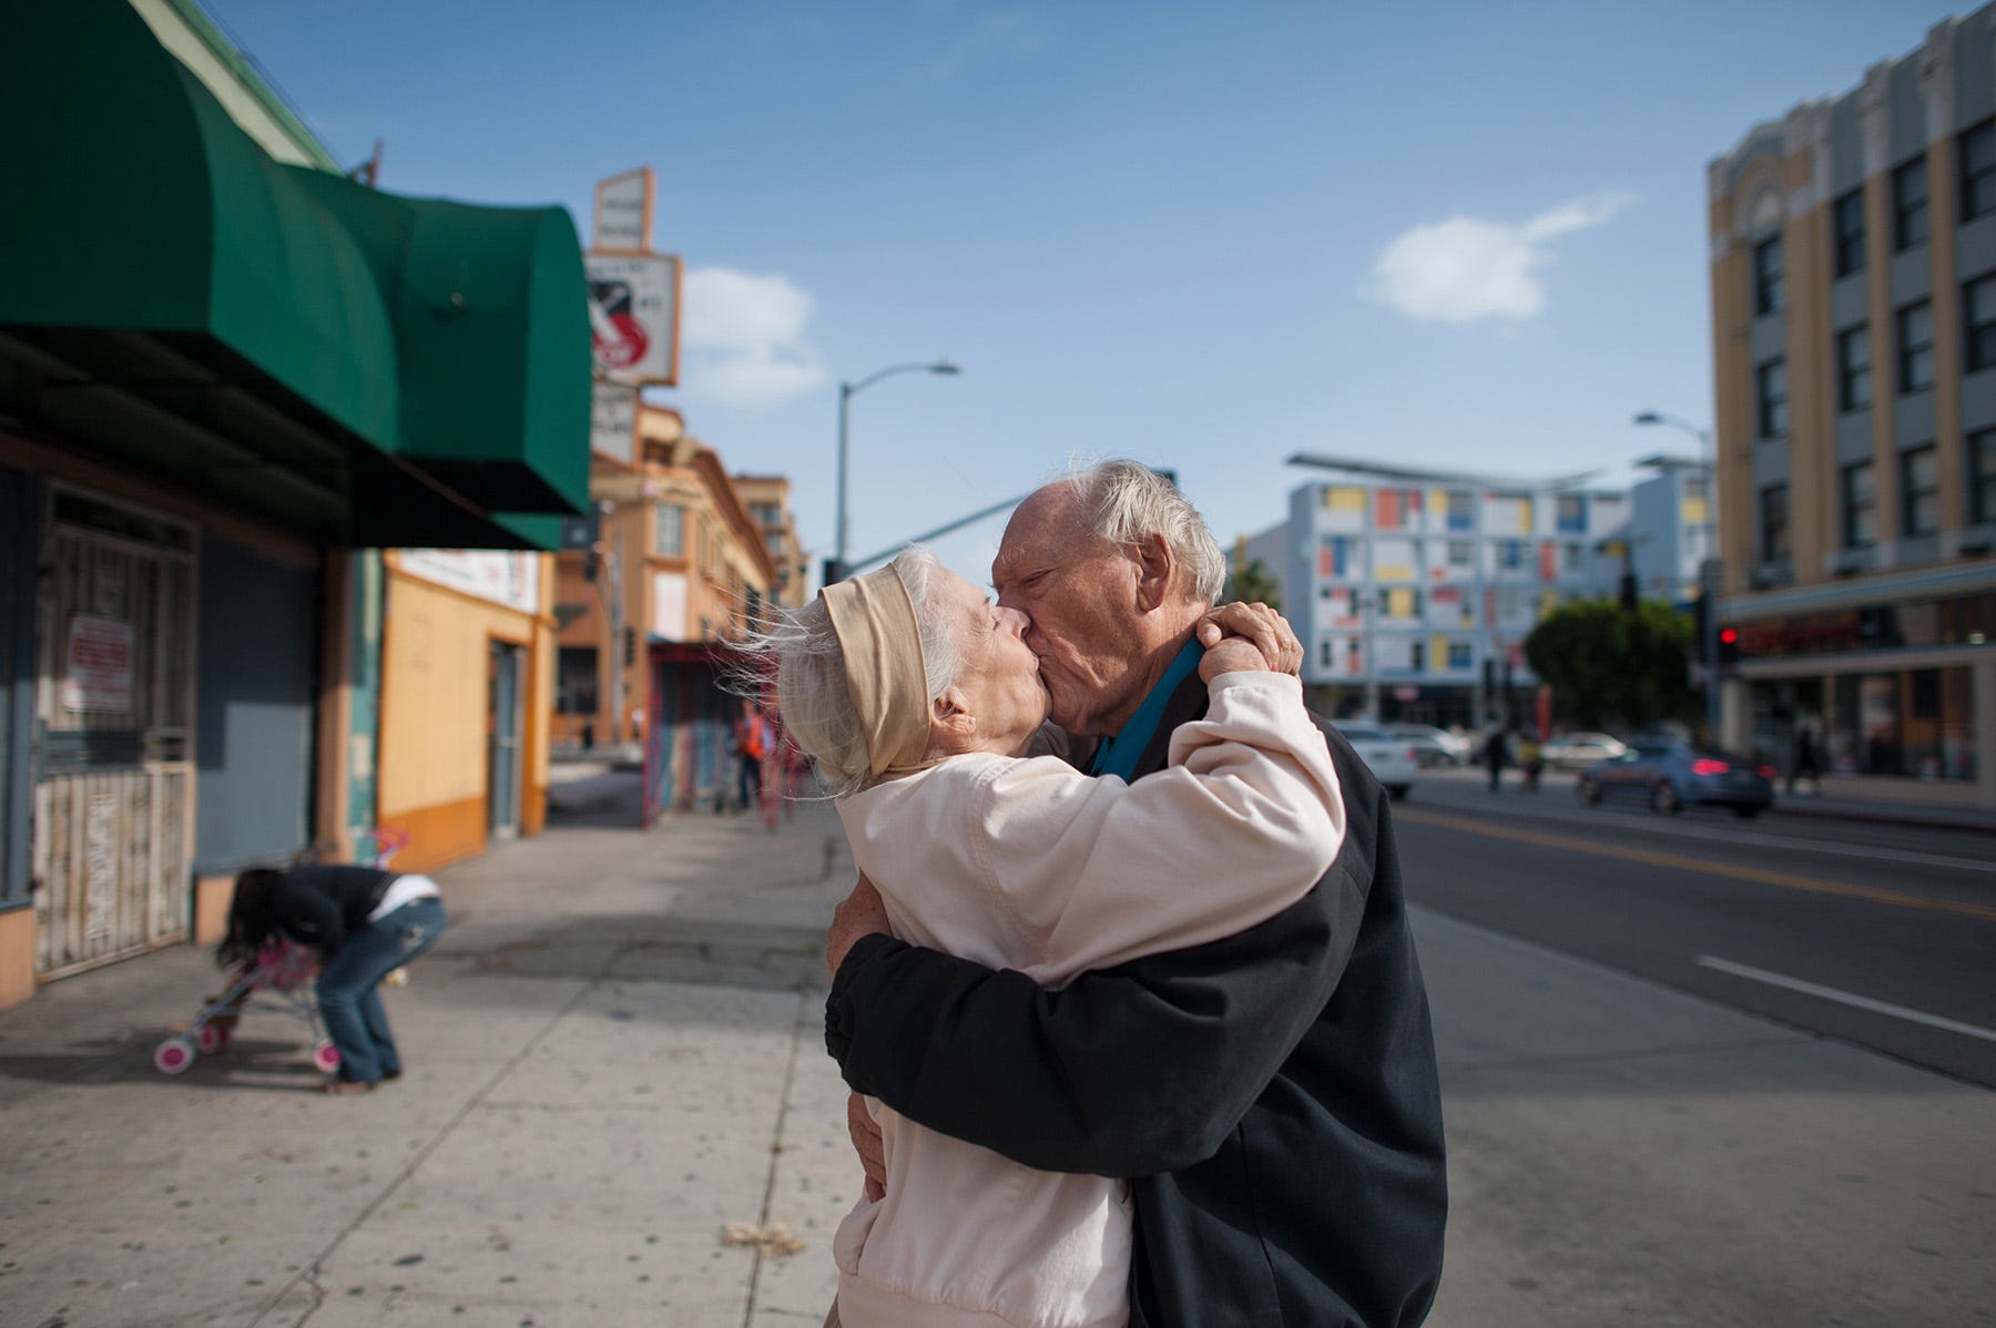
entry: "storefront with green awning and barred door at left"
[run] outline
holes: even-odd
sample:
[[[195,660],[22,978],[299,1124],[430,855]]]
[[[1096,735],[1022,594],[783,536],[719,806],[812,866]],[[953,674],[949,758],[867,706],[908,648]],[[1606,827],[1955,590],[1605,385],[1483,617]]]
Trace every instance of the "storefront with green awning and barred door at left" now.
[[[353,853],[361,550],[553,548],[587,498],[567,213],[279,162],[275,98],[216,70],[228,106],[124,0],[0,42],[0,1005],[212,937],[246,865]]]

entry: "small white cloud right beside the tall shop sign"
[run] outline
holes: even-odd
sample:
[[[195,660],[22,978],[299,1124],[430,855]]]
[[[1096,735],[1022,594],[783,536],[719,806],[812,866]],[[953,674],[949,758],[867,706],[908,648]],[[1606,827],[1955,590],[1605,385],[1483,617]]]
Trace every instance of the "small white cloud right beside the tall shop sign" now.
[[[689,267],[681,315],[689,397],[768,411],[830,383],[810,341],[810,291],[774,273]]]

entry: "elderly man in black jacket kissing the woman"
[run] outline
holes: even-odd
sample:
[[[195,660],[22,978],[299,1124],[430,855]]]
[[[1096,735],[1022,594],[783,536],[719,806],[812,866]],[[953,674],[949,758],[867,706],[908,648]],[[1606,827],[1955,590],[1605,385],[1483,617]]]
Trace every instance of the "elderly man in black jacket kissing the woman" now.
[[[1198,634],[1224,572],[1192,504],[1136,463],[1014,512],[998,602],[1032,618],[1054,720],[1100,738],[1092,772],[1160,770],[1172,730],[1204,714]],[[1138,1328],[1419,1324],[1435,1296],[1427,995],[1385,792],[1325,738],[1343,849],[1303,901],[1238,935],[1060,991],[892,939],[864,883],[826,937],[826,1045],[856,1093],[1026,1166],[1132,1178]]]

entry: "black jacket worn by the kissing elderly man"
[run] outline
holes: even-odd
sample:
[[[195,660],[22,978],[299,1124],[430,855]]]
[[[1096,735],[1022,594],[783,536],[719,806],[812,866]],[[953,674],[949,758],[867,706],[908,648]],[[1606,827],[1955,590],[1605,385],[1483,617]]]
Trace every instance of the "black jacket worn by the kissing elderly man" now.
[[[1188,678],[1138,776],[1204,714]],[[1319,728],[1345,843],[1275,917],[1062,991],[874,935],[826,1001],[856,1091],[1026,1166],[1132,1178],[1136,1328],[1387,1328],[1435,1298],[1447,1182],[1427,991],[1385,790]]]

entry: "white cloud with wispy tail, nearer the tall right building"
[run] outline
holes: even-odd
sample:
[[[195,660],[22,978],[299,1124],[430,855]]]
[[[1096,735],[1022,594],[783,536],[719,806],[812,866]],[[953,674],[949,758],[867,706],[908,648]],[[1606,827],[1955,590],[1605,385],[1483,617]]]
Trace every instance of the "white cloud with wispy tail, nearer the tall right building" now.
[[[1627,193],[1577,197],[1523,223],[1449,217],[1399,235],[1373,261],[1365,297],[1423,323],[1529,319],[1545,309],[1551,241],[1601,225]]]

